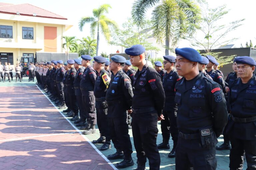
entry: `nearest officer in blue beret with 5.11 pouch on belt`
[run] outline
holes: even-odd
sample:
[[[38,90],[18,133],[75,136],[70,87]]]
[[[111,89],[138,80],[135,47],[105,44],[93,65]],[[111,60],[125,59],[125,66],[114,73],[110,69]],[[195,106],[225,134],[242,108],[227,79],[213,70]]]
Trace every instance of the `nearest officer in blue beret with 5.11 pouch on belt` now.
[[[215,170],[217,137],[227,123],[221,86],[198,70],[201,55],[193,48],[176,48],[176,69],[183,76],[175,85],[178,104],[176,169]]]

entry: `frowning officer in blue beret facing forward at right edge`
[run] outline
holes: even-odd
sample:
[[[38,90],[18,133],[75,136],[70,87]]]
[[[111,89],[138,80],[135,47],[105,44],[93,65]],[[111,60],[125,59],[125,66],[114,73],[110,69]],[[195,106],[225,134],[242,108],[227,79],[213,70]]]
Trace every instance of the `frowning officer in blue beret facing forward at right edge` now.
[[[231,120],[226,128],[230,134],[230,170],[243,169],[246,157],[247,169],[256,169],[256,62],[248,56],[236,58],[239,78],[229,86]]]

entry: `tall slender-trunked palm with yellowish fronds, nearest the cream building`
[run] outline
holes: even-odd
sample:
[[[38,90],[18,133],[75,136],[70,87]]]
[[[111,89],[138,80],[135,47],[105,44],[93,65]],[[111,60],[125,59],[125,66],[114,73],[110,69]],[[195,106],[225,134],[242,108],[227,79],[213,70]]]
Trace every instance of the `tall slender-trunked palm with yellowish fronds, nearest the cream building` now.
[[[91,24],[91,36],[94,37],[95,29],[97,28],[97,48],[96,55],[98,55],[99,42],[100,42],[100,29],[107,42],[110,41],[110,27],[116,29],[117,24],[115,21],[107,18],[104,13],[108,13],[111,6],[109,4],[103,4],[98,9],[93,9],[93,17],[82,17],[79,22],[79,29],[83,31],[83,27],[86,23]]]

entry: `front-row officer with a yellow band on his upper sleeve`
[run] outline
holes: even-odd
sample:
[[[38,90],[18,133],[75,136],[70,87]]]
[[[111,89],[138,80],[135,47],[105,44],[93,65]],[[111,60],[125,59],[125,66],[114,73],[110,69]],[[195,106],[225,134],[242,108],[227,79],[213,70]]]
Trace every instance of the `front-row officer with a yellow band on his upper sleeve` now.
[[[104,144],[100,147],[99,150],[107,150],[111,148],[111,138],[109,132],[109,124],[108,124],[108,107],[106,104],[106,93],[110,82],[110,75],[104,69],[106,58],[102,56],[93,57],[94,64],[93,68],[96,71],[97,78],[95,80],[94,86],[94,96],[95,96],[95,107],[97,113],[97,125],[100,131],[100,138],[93,141],[93,143],[102,143],[102,140],[105,139]]]

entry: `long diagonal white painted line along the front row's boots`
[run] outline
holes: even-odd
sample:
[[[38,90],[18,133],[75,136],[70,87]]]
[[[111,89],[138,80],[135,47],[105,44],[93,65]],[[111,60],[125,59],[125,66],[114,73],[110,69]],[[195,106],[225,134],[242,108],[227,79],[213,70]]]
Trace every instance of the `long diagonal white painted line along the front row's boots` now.
[[[37,86],[37,85],[36,85]],[[69,124],[75,128],[82,136],[83,138],[91,144],[91,146],[96,150],[96,152],[98,152],[100,154],[100,156],[105,159],[105,161],[107,161],[107,163],[114,169],[114,170],[118,170],[113,164],[112,162],[110,162],[110,160],[108,160],[108,158],[85,136],[82,134],[82,132],[76,128],[71,122],[70,120],[52,103],[52,101],[44,94],[44,92],[37,86],[37,88],[43,93],[43,95],[51,102],[51,104],[59,111],[59,113],[69,122]]]

